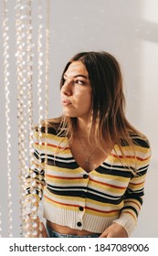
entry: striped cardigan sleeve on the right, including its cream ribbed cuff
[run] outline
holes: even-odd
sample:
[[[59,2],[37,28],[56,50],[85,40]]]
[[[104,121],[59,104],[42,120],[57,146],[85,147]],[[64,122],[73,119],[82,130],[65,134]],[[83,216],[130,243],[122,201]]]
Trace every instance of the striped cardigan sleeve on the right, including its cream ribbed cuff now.
[[[137,168],[136,176],[132,179],[124,194],[124,206],[121,209],[119,219],[113,222],[120,224],[126,229],[128,236],[132,234],[137,224],[138,215],[142,207],[142,198],[144,196],[144,184],[146,179],[147,169],[150,163],[151,149],[150,147],[143,149],[142,157],[139,157],[139,167]]]

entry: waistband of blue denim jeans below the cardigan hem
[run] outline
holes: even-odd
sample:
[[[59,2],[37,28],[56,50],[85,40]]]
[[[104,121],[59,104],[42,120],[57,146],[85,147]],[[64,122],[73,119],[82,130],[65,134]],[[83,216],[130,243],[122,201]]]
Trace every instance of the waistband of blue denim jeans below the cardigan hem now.
[[[67,235],[60,234],[49,227],[47,227],[47,235],[49,238],[99,238],[100,234],[90,234],[87,236],[75,236],[75,235]]]

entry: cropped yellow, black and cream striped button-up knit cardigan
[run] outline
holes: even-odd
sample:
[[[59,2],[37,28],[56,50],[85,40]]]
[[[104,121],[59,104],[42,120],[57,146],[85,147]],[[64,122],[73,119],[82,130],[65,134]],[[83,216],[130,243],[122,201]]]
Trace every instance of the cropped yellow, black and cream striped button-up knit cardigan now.
[[[122,145],[131,169],[122,165],[121,152],[115,144],[111,155],[87,173],[75,161],[67,137],[58,136],[53,128],[48,128],[39,141],[35,132],[32,169],[37,197],[44,200],[44,218],[72,229],[97,233],[116,222],[130,236],[141,210],[151,155],[149,144],[141,137],[132,135],[132,140],[135,155],[131,146]],[[132,172],[135,166],[137,176]],[[28,176],[27,198],[31,197],[30,179]]]

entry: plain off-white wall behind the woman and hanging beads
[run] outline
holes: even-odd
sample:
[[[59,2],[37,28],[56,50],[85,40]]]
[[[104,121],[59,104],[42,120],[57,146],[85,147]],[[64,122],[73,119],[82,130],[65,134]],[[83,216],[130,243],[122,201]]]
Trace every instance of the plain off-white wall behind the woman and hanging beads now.
[[[11,58],[11,125],[14,236],[19,236],[19,192],[16,132],[16,52],[14,5],[9,2]],[[36,20],[37,1],[34,4]],[[42,1],[46,16],[46,0]],[[130,121],[151,141],[153,157],[148,171],[144,204],[133,237],[158,237],[157,224],[157,83],[158,83],[158,1],[157,0],[51,0],[51,49],[49,117],[61,113],[59,103],[59,78],[68,59],[85,50],[105,50],[119,59],[124,75],[127,95],[127,115]],[[2,5],[2,4],[1,4]],[[2,13],[2,6],[0,7]],[[1,15],[2,16],[2,15]],[[44,19],[45,21],[45,19]],[[2,30],[0,31],[0,56],[3,55]],[[34,33],[36,35],[36,27]],[[36,36],[35,36],[36,37]],[[3,206],[3,236],[7,237],[6,208],[6,149],[5,149],[5,91],[3,83],[3,58],[0,58],[0,203]],[[37,72],[37,70],[35,70]],[[37,74],[35,74],[36,76]],[[35,117],[35,123],[37,118]],[[7,228],[6,228],[7,229]]]

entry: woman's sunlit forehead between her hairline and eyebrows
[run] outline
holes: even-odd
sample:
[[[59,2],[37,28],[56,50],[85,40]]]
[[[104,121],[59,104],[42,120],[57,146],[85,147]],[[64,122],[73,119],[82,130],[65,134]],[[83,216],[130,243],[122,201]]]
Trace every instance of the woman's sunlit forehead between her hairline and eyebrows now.
[[[84,75],[87,78],[89,77],[89,73],[81,61],[72,62],[68,66],[68,69],[65,72],[65,75],[67,75],[67,76]]]

